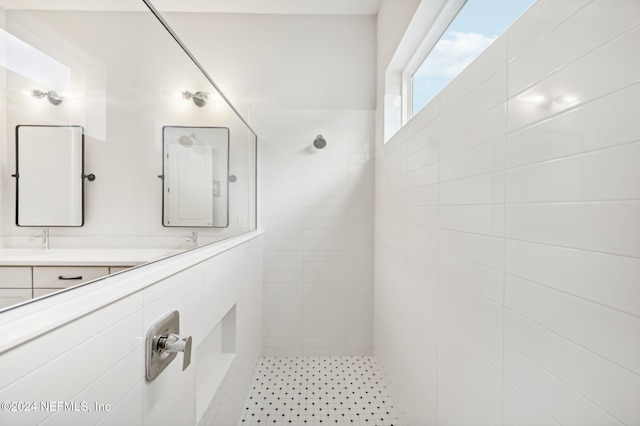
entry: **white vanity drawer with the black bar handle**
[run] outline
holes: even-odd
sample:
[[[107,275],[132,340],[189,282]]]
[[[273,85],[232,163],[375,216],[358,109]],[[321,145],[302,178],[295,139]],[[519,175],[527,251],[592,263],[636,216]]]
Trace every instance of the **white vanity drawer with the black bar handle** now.
[[[36,266],[33,288],[66,288],[106,275],[108,266]]]

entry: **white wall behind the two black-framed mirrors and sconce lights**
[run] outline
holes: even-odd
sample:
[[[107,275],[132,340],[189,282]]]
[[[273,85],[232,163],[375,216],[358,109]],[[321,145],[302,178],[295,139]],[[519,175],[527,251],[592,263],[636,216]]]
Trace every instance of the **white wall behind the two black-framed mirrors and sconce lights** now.
[[[231,132],[230,226],[201,229],[200,241],[229,237],[255,221],[250,135],[219,97],[204,108],[180,98],[213,87],[151,13],[10,10],[4,28],[69,73],[63,87],[5,71],[4,137],[0,138],[0,245],[37,248],[32,229],[15,226],[15,126],[81,125],[85,129],[85,225],[50,230],[52,248],[189,248],[189,229],[161,224],[162,127],[220,126]],[[117,28],[117,31],[114,31]],[[9,55],[11,56],[11,55]],[[15,61],[14,57],[11,57]],[[35,69],[42,66],[35,64]],[[31,89],[68,94],[57,107],[25,96]],[[42,161],[46,161],[43,158]]]

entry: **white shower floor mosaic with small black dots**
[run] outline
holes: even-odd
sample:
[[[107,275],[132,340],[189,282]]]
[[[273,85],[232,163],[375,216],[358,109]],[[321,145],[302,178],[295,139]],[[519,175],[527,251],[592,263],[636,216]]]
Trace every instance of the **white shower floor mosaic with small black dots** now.
[[[397,425],[371,357],[263,358],[240,425]]]

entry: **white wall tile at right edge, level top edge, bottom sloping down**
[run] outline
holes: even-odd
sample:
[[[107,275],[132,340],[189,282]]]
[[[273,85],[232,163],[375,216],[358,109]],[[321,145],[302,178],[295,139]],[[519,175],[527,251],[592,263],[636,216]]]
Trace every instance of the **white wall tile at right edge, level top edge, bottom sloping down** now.
[[[507,237],[638,257],[638,217],[640,202],[507,205]]]

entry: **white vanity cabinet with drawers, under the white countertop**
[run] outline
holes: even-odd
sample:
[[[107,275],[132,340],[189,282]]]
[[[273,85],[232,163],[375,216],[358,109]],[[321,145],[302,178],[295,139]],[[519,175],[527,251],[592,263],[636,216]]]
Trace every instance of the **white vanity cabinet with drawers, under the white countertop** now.
[[[0,266],[0,309],[131,266]]]

